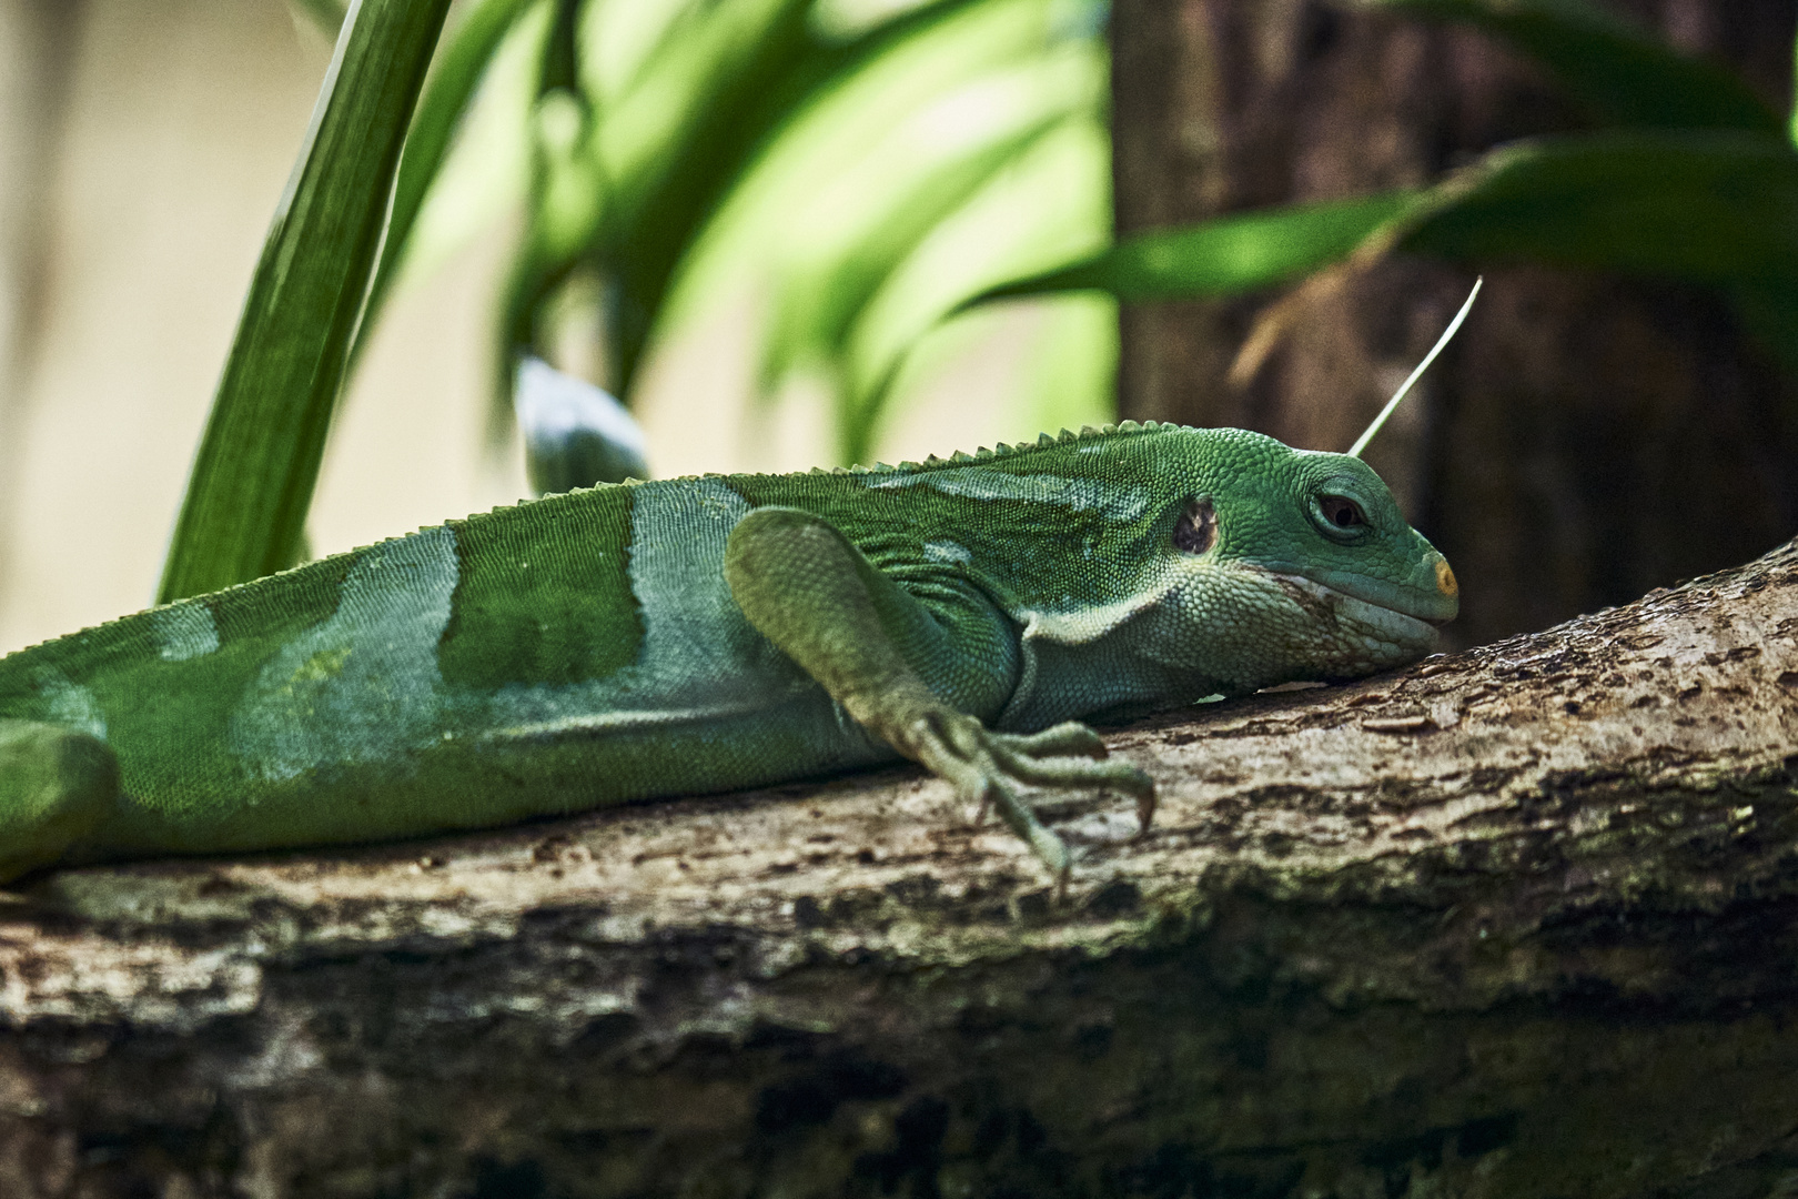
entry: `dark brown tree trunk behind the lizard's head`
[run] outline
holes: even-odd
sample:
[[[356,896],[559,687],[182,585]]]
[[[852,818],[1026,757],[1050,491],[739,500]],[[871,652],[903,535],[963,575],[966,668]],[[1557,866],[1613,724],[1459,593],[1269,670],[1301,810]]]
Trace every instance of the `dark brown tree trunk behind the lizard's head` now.
[[[1611,7],[1728,59],[1784,110],[1793,0]],[[1498,142],[1582,122],[1496,41],[1322,0],[1117,0],[1113,47],[1126,232],[1422,185]],[[1302,304],[1278,349],[1235,377],[1277,297],[1126,311],[1124,413],[1343,449],[1471,282],[1386,262]],[[1368,460],[1455,563],[1467,604],[1453,636],[1474,645],[1791,536],[1798,388],[1715,295],[1487,270],[1456,345]]]

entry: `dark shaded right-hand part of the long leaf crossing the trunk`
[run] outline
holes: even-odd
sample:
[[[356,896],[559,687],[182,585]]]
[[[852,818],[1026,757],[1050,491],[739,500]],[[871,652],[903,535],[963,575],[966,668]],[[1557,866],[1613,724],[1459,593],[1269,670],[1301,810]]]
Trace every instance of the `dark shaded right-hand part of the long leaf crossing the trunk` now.
[[[1390,230],[1460,261],[1696,282],[1798,279],[1798,155],[1782,135],[1616,129],[1503,146]]]

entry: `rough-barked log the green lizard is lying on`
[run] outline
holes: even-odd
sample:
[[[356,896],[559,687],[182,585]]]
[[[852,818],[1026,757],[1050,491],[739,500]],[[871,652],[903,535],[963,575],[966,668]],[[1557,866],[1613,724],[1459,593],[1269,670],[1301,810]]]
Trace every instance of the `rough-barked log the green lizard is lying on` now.
[[[1794,699],[1798,543],[1124,730],[1063,902],[906,769],[52,874],[0,1194],[1791,1194]]]

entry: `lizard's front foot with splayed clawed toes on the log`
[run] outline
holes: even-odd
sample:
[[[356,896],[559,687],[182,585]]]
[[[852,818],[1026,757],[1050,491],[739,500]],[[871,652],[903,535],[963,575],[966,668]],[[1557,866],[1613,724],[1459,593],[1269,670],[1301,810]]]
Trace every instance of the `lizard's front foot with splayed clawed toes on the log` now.
[[[998,807],[1012,832],[1055,874],[1057,893],[1068,888],[1068,847],[1018,796],[1016,784],[1122,791],[1136,798],[1144,829],[1154,818],[1154,780],[1127,762],[1100,760],[1106,746],[1084,724],[1070,721],[1039,733],[996,733],[971,715],[937,710],[919,717],[910,732],[917,760],[978,805],[978,818]]]

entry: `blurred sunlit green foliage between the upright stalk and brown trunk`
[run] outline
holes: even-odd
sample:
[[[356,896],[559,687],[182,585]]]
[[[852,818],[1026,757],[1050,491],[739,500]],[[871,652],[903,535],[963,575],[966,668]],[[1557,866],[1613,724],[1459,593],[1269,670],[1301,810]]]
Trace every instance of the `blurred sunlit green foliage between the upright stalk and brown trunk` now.
[[[946,311],[1104,244],[1104,20],[1102,0],[485,0],[419,104],[363,327],[401,264],[471,232],[453,214],[521,201],[496,437],[521,356],[597,327],[597,381],[631,403],[654,338],[753,293],[761,394],[822,379],[840,458],[865,460],[888,397],[930,374],[912,347],[960,345],[930,336]],[[1100,369],[1041,410],[1106,410],[1113,324],[1063,306],[1057,342]]]

